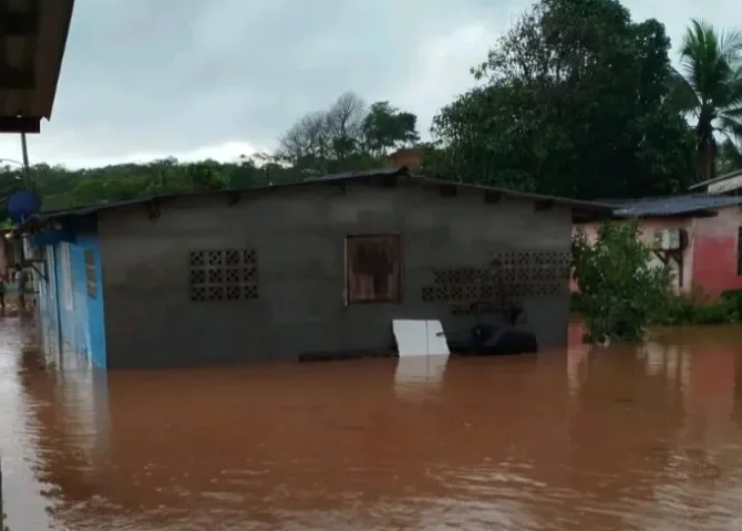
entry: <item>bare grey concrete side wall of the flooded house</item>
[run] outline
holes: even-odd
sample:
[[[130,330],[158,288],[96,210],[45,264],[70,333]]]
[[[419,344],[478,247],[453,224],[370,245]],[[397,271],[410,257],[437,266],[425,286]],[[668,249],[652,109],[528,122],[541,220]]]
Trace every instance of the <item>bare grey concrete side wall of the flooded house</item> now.
[[[471,195],[470,195],[471,194]],[[344,238],[403,235],[402,304],[346,305]],[[569,250],[568,208],[461,191],[348,185],[285,188],[228,205],[226,195],[179,198],[151,220],[142,207],[99,215],[109,367],[296,360],[301,352],[387,348],[391,320],[473,322],[422,301],[433,268],[484,268],[505,250]],[[192,302],[188,252],[255,248],[257,300]],[[566,345],[569,296],[525,299],[543,347]]]

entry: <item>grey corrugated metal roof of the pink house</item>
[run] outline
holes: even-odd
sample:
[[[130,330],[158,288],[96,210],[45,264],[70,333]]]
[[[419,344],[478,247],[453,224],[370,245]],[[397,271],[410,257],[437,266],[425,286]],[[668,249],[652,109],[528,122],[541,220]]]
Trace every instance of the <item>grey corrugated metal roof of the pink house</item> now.
[[[614,217],[617,218],[700,217],[712,216],[720,208],[742,205],[742,197],[691,194],[606,202],[614,205]]]

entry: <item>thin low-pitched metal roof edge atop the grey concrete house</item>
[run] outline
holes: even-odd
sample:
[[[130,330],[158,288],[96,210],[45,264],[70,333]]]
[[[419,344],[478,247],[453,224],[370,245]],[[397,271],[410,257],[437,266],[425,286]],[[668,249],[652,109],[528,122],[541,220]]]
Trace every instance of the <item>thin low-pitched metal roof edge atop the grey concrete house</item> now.
[[[305,180],[290,184],[281,184],[275,186],[261,186],[254,188],[240,188],[240,189],[223,189],[216,191],[196,191],[196,192],[185,192],[185,194],[169,194],[169,195],[159,195],[152,196],[143,199],[133,199],[126,201],[116,201],[116,202],[104,202],[97,205],[86,205],[64,210],[54,210],[41,212],[37,216],[30,218],[23,226],[19,227],[19,230],[24,228],[42,223],[45,221],[53,221],[61,218],[74,217],[74,216],[87,216],[103,210],[112,210],[117,208],[146,205],[155,201],[166,201],[169,199],[181,198],[181,197],[200,197],[200,196],[213,196],[219,194],[260,194],[275,189],[285,189],[292,187],[315,187],[321,184],[343,184],[343,183],[354,183],[354,181],[372,181],[383,178],[396,178],[403,177],[410,184],[422,185],[422,186],[455,186],[463,189],[473,189],[481,190],[483,192],[496,192],[501,194],[503,197],[513,197],[518,199],[532,200],[532,201],[552,201],[555,205],[561,205],[566,207],[571,207],[575,211],[585,215],[591,215],[596,218],[608,218],[612,212],[612,208],[606,204],[595,202],[595,201],[581,201],[576,199],[567,199],[553,196],[542,196],[538,194],[525,194],[521,191],[507,190],[504,188],[494,188],[487,186],[470,185],[463,183],[456,183],[451,180],[433,179],[429,177],[423,177],[420,175],[410,174],[406,167],[395,167],[395,168],[379,168],[372,170],[362,170],[362,171],[346,171],[342,174],[332,174],[321,177],[309,177]]]

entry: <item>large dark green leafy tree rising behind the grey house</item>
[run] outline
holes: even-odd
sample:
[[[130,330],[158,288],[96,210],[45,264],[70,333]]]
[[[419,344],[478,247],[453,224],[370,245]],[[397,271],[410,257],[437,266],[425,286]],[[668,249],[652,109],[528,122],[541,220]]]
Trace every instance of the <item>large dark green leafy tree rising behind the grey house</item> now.
[[[669,48],[662,24],[631,22],[615,0],[543,0],[434,118],[424,165],[578,198],[684,189],[692,135],[669,102]]]

